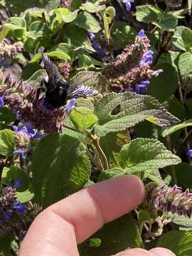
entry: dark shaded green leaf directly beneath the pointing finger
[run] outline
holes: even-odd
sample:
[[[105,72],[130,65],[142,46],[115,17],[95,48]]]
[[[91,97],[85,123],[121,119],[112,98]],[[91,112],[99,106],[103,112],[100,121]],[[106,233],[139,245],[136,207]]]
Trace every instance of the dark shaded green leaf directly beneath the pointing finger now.
[[[88,247],[87,242],[80,245],[80,255],[114,255],[132,247],[142,247],[142,238],[136,220],[131,214],[107,223],[92,238],[100,239],[100,247]]]

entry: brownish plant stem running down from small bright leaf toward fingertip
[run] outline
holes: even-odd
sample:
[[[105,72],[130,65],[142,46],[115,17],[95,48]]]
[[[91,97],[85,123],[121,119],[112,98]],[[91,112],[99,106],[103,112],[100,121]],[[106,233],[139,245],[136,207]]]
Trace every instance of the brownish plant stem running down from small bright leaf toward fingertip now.
[[[102,162],[103,170],[109,169],[107,157],[105,156],[105,153],[102,151],[102,148],[100,147],[100,143],[99,143],[100,138],[92,135],[90,132],[87,132],[87,131],[86,131],[86,135],[87,135],[87,137],[89,137],[92,140],[93,145],[97,149],[97,152],[98,152],[101,162]]]

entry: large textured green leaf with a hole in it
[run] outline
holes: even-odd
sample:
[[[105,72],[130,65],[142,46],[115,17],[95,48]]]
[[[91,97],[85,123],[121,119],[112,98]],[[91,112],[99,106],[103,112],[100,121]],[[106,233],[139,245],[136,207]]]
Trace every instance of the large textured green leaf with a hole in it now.
[[[97,102],[95,114],[98,117],[98,124],[95,126],[95,133],[98,136],[124,131],[145,119],[159,127],[179,121],[154,97],[137,95],[133,92],[105,95]]]

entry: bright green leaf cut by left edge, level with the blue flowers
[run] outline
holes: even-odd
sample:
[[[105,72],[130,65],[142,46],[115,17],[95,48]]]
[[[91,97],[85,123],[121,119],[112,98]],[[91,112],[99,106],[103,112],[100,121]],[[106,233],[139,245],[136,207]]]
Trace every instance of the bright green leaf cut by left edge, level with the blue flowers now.
[[[16,132],[9,129],[0,131],[0,154],[3,156],[13,156],[15,149],[14,135]]]

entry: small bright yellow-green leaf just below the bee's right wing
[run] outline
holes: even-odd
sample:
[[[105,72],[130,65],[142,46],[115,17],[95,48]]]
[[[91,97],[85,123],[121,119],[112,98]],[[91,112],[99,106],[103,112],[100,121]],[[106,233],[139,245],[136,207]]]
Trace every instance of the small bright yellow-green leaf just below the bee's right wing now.
[[[97,122],[97,116],[86,107],[77,107],[70,113],[70,119],[80,132],[85,132]]]

